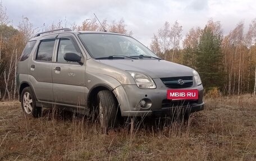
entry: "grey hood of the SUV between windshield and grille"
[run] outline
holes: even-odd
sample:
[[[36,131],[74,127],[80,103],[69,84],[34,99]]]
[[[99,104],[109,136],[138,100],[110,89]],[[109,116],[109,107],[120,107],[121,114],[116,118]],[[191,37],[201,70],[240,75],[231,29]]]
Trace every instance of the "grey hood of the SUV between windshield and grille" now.
[[[152,78],[193,76],[193,71],[190,67],[164,60],[104,59],[99,60],[99,62],[125,71],[144,72]]]

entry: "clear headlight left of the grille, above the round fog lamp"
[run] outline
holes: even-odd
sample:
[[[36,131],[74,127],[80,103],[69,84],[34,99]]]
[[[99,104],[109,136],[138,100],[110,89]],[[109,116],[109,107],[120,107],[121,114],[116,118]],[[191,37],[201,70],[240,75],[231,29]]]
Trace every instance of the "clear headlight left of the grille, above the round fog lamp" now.
[[[134,78],[136,85],[141,89],[155,89],[157,86],[149,76],[144,75],[140,72],[129,71],[131,76]]]

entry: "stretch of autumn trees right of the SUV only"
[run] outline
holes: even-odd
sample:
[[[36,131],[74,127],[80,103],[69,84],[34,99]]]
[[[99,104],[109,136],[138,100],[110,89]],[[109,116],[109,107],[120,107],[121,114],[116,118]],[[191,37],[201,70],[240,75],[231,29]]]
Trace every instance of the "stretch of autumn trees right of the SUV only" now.
[[[182,26],[165,22],[153,35],[150,48],[159,57],[181,63],[199,72],[205,90],[224,95],[256,90],[256,19],[244,32],[239,22],[223,35],[221,22],[210,19],[203,29],[193,27],[182,39]]]

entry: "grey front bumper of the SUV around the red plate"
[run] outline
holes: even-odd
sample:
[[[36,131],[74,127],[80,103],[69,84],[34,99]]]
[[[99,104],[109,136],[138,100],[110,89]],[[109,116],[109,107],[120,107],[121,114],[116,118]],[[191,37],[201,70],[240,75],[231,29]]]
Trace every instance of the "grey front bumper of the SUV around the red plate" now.
[[[160,79],[154,79],[154,82],[157,85],[156,89],[140,89],[136,85],[121,85],[113,90],[122,116],[166,116],[177,109],[185,109],[188,112],[204,109],[202,85],[193,85],[189,88],[199,91],[198,100],[182,100],[183,102],[177,103],[167,100],[167,88]],[[139,105],[141,99],[149,99],[151,106],[147,109],[141,108]]]

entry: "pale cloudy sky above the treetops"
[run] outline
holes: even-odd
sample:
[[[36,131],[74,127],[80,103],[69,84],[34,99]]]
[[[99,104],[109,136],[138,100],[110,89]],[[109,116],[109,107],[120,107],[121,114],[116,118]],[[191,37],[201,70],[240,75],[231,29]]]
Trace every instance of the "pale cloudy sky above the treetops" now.
[[[149,46],[153,34],[157,34],[164,22],[182,26],[182,35],[191,27],[203,28],[209,19],[221,21],[223,34],[227,35],[240,21],[245,31],[256,18],[255,0],[2,0],[11,25],[17,26],[22,16],[28,17],[34,27],[50,26],[59,20],[81,24],[92,19],[95,13],[99,20],[124,19],[127,30],[133,37]]]

